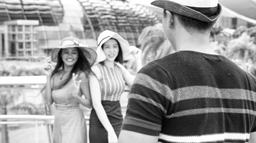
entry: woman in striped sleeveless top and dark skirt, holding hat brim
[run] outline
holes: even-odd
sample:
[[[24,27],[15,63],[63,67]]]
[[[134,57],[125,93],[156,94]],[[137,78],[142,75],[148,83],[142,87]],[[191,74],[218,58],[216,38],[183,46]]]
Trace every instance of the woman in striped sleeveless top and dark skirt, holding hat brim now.
[[[123,59],[133,53],[137,70],[141,68],[141,50],[130,46],[119,34],[103,31],[98,37],[97,62],[92,67],[96,76],[90,77],[93,109],[90,114],[90,143],[117,143],[122,126],[120,95],[125,82],[131,85],[133,75],[122,65]]]

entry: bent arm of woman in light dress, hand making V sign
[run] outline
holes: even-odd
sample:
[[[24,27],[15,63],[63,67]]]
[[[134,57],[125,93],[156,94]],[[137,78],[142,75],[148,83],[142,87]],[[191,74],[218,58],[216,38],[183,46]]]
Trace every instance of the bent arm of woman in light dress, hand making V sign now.
[[[85,98],[82,98],[78,95],[73,97],[75,97],[83,106],[87,108],[92,108],[93,106],[90,98],[89,78],[87,77],[86,73],[82,72],[80,73],[78,79],[81,80],[80,89]]]

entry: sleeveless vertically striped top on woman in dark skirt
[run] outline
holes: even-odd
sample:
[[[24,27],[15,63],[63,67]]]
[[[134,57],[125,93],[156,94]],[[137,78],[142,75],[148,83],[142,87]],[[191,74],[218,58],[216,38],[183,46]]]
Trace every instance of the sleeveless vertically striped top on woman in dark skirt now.
[[[122,69],[116,63],[114,67],[107,67],[102,64],[97,65],[102,73],[102,79],[99,79],[102,100],[119,101],[121,94],[125,90]]]

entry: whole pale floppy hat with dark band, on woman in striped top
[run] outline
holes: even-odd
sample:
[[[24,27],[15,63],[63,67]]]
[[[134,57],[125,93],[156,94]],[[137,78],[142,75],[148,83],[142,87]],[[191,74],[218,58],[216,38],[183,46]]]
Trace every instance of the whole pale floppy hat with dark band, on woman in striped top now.
[[[119,42],[119,44],[121,46],[121,49],[122,49],[123,59],[125,59],[128,56],[128,54],[130,53],[130,51],[129,51],[130,45],[129,45],[128,41],[123,39],[116,32],[105,30],[101,34],[99,34],[99,37],[98,37],[98,40],[97,40],[98,48],[96,50],[96,53],[98,55],[98,58],[96,60],[96,63],[102,62],[107,58],[105,53],[102,50],[102,45],[111,38],[116,39]]]

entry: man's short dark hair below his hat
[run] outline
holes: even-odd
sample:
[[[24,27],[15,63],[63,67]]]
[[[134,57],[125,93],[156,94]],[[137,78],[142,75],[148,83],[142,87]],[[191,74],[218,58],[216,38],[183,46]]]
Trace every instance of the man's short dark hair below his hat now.
[[[200,32],[205,32],[210,30],[212,26],[215,24],[216,20],[213,22],[204,22],[201,20],[197,20],[194,18],[186,17],[180,14],[176,14],[171,12],[172,16],[176,16],[180,21],[180,24],[186,29],[186,31],[191,32],[193,30],[197,30]],[[166,17],[166,10],[163,10],[163,16]]]

